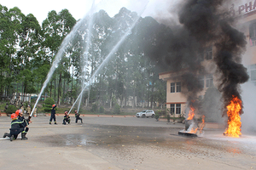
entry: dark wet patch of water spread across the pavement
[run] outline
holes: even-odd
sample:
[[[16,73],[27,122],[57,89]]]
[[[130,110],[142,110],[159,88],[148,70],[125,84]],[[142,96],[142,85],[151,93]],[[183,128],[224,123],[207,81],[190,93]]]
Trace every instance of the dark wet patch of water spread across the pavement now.
[[[168,127],[123,127],[90,125],[74,133],[44,136],[50,146],[90,146],[122,148],[128,145],[151,145],[166,150],[189,152],[203,156],[220,156],[223,153],[241,154],[240,144],[205,138],[191,138],[177,135],[181,129]],[[212,150],[217,151],[212,153]]]

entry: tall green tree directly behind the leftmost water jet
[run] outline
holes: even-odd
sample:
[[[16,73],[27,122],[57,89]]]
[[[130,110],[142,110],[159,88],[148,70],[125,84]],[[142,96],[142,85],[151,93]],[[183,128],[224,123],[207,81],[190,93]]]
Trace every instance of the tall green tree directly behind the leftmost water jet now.
[[[55,54],[61,46],[61,42],[67,36],[67,34],[72,30],[75,25],[76,20],[73,16],[68,12],[67,9],[61,10],[59,14],[57,14],[54,10],[49,12],[48,18],[43,22],[43,31],[44,31],[44,46],[49,48],[48,55],[51,56],[51,61],[53,61]],[[55,75],[53,76],[50,82],[50,96],[52,95],[52,87],[53,81],[56,82],[56,78],[58,77],[58,85],[54,85],[55,94],[57,88],[57,102],[60,103],[61,97],[61,84],[62,84],[62,74],[63,72],[67,72],[68,69],[68,59],[62,58],[61,63],[57,71],[55,71]],[[56,95],[55,95],[56,97]]]

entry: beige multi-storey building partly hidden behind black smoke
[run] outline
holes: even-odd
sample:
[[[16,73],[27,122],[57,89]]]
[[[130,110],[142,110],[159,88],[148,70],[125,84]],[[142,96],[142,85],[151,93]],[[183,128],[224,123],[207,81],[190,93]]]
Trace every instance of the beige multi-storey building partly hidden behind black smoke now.
[[[247,51],[242,56],[242,63],[247,67],[249,81],[256,82],[256,0],[245,1],[246,3],[237,3],[232,5],[230,11],[236,16],[236,28],[244,32],[247,39]],[[198,97],[201,98],[206,93],[207,88],[214,86],[214,71],[215,64],[212,62],[214,57],[214,48],[208,46],[204,49],[201,55],[201,65],[204,65],[207,71],[207,76],[201,77],[201,85],[203,90]],[[179,76],[183,75],[180,72],[163,72],[159,78],[166,81],[166,108],[169,109],[175,116],[184,115],[187,108],[187,98],[183,96],[182,83],[178,81]],[[255,83],[256,84],[256,83]]]

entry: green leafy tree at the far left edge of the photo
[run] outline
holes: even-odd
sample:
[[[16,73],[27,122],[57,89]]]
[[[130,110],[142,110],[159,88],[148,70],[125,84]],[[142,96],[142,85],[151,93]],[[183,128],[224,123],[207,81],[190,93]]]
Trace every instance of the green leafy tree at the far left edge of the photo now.
[[[22,20],[25,15],[20,12],[19,8],[8,8],[0,5],[0,73],[1,73],[1,90],[5,91],[5,96],[11,94],[13,83],[16,80],[18,72],[15,71],[16,60],[16,48],[18,46],[19,32],[21,28]]]

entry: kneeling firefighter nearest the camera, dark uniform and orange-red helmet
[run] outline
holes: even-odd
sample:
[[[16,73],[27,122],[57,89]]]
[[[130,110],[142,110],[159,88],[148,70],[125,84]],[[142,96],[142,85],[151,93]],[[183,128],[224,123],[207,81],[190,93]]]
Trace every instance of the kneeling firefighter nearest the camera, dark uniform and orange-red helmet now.
[[[21,122],[20,119],[18,119],[18,116],[15,113],[11,115],[11,119],[12,119],[12,122],[11,122],[11,128],[9,129],[9,133],[4,133],[3,138],[8,136],[10,141],[13,141],[14,139],[17,139],[18,135],[21,132],[24,132],[25,127],[22,124],[23,122]],[[21,139],[22,139],[22,136],[21,136]]]

